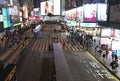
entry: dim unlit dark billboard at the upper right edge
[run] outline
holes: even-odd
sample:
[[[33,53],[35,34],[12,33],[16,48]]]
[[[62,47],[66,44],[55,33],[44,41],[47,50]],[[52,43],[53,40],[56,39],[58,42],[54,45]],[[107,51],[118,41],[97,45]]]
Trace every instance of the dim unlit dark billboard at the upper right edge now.
[[[120,22],[120,5],[110,6],[109,21]]]

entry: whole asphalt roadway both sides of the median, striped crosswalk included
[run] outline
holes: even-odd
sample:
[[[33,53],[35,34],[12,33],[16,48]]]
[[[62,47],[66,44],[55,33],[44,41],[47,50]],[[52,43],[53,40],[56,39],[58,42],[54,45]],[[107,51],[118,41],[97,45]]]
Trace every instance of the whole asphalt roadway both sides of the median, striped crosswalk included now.
[[[56,81],[54,55],[48,51],[48,44],[52,45],[53,39],[49,38],[51,33],[48,34],[32,39],[24,50],[17,63],[18,81]],[[66,43],[64,54],[74,81],[117,81],[90,54],[75,46],[69,47],[65,38],[61,37],[59,41]]]

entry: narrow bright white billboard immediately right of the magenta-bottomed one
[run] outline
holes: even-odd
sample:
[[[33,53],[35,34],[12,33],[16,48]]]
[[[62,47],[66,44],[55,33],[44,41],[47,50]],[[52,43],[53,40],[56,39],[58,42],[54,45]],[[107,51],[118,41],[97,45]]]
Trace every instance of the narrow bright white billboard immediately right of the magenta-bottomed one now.
[[[98,21],[107,21],[107,4],[98,4]]]

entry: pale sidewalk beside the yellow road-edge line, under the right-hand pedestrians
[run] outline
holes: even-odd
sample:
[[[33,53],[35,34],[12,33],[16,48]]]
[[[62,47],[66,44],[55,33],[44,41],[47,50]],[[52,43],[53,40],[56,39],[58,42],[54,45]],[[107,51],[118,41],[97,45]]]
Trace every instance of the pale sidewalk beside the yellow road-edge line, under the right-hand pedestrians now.
[[[108,54],[107,58],[104,58],[102,56],[98,56],[98,54],[95,53],[95,46],[88,48],[88,51],[96,58],[99,62],[101,62],[106,68],[108,68],[109,71],[111,71],[112,74],[114,74],[116,77],[120,79],[120,59],[118,60],[119,67],[117,67],[117,72],[113,72],[112,68],[110,66],[110,63],[112,62],[112,56],[111,54]]]

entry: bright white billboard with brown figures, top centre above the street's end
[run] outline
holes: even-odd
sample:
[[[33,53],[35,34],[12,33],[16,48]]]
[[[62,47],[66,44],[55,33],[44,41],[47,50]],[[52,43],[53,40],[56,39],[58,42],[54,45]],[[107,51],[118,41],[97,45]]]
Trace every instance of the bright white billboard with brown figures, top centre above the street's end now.
[[[49,0],[41,2],[41,15],[60,15],[60,0]]]

